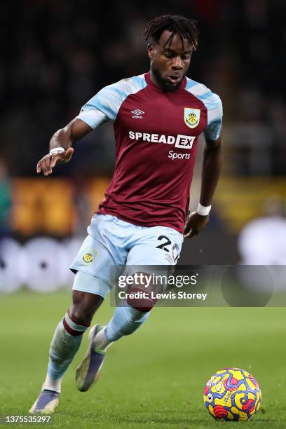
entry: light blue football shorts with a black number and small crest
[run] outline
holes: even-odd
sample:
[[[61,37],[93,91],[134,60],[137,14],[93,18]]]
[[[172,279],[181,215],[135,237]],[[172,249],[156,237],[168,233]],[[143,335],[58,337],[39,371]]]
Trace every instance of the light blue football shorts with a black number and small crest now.
[[[95,214],[69,267],[78,272],[73,290],[105,298],[125,266],[128,275],[141,271],[138,266],[174,266],[182,242],[182,234],[167,226],[137,226],[109,214]]]

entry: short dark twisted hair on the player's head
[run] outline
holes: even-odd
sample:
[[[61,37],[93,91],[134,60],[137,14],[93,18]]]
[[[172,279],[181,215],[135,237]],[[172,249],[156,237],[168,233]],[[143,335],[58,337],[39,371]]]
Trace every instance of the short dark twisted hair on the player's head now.
[[[155,41],[159,43],[160,37],[165,30],[171,32],[165,46],[170,46],[175,34],[178,34],[182,43],[184,39],[191,43],[192,50],[196,50],[198,46],[198,28],[195,20],[189,20],[181,15],[161,15],[148,22],[144,29],[144,36],[147,43]]]

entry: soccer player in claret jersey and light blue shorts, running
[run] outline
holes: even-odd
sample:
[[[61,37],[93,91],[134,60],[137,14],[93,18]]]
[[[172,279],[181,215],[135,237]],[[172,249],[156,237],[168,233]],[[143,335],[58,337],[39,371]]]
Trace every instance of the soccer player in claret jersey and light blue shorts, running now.
[[[207,224],[222,165],[222,102],[186,77],[198,46],[196,22],[177,15],[151,20],[144,30],[150,71],[113,83],[97,93],[50,139],[37,172],[50,175],[71,159],[76,140],[113,121],[116,165],[105,198],[88,226],[71,270],[72,304],[55,329],[48,372],[30,412],[53,412],[61,381],[83,333],[111,288],[114,266],[175,265],[183,238]],[[198,209],[187,219],[198,136],[205,135]],[[155,302],[129,300],[117,306],[107,326],[90,329],[89,346],[76,371],[76,386],[97,380],[107,348],[147,320]]]

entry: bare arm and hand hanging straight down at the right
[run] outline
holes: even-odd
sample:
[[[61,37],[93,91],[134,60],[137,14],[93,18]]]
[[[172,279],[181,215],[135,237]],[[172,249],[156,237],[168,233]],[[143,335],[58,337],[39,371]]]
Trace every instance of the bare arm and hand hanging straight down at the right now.
[[[212,205],[214,191],[219,181],[222,170],[222,136],[217,140],[205,139],[205,149],[203,154],[202,180],[200,186],[200,205],[208,207]],[[184,229],[184,238],[196,236],[209,222],[209,214],[191,213]]]

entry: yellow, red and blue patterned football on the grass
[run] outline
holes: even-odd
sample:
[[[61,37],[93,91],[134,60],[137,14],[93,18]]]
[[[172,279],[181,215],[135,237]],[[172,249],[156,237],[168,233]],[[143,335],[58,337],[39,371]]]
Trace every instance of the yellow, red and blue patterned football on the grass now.
[[[249,420],[259,410],[261,390],[244,369],[224,368],[207,381],[203,400],[216,420]]]

